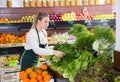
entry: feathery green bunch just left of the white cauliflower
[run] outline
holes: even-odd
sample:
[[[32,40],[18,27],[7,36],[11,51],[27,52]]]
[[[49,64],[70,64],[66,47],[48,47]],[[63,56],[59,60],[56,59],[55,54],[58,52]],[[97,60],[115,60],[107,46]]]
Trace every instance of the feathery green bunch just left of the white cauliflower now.
[[[68,34],[73,35],[76,38],[75,45],[81,51],[90,51],[94,53],[92,44],[95,41],[95,36],[87,30],[87,27],[82,24],[74,24],[73,27],[68,31]]]

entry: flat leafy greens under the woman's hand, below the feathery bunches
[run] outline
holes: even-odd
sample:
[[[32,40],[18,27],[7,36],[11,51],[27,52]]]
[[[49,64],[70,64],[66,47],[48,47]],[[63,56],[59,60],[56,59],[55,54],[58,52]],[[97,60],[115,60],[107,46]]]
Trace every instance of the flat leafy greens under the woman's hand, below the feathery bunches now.
[[[96,63],[92,53],[80,51],[73,44],[67,42],[62,45],[56,44],[54,49],[63,51],[65,55],[61,59],[56,56],[49,57],[50,67],[70,82],[74,82],[74,78],[79,71],[86,70]]]

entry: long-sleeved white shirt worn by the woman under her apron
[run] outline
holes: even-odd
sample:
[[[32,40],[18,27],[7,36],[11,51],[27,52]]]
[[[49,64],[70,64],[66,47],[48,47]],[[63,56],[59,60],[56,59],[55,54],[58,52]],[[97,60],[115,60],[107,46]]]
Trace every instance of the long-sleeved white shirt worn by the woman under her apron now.
[[[43,33],[43,32],[44,33]],[[39,47],[39,40],[37,36],[36,29],[31,29],[27,36],[26,36],[26,44],[25,44],[25,50],[32,49],[36,54],[38,55],[53,55],[53,50],[48,48],[48,41],[47,41],[47,32],[45,30],[42,30],[39,32],[40,37],[40,44],[46,44],[46,48],[40,48]],[[45,36],[46,35],[46,36]]]

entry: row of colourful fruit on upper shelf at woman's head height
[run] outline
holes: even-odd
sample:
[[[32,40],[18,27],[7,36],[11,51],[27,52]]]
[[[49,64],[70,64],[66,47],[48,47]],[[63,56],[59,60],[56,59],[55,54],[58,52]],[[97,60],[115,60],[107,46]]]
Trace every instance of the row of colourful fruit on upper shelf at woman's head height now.
[[[23,16],[21,19],[8,19],[1,18],[0,23],[26,23],[33,22],[35,15]],[[99,19],[115,19],[115,14],[100,14],[100,15],[92,15],[86,13],[51,13],[49,14],[50,21],[79,21],[79,20],[99,20]]]

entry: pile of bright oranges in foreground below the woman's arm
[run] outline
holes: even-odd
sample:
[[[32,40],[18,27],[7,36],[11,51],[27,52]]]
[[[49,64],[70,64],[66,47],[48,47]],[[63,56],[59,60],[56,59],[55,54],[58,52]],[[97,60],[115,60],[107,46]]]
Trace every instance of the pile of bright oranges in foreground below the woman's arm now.
[[[19,77],[22,82],[50,82],[52,77],[47,69],[46,64],[42,64],[40,67],[33,66],[21,71]]]

